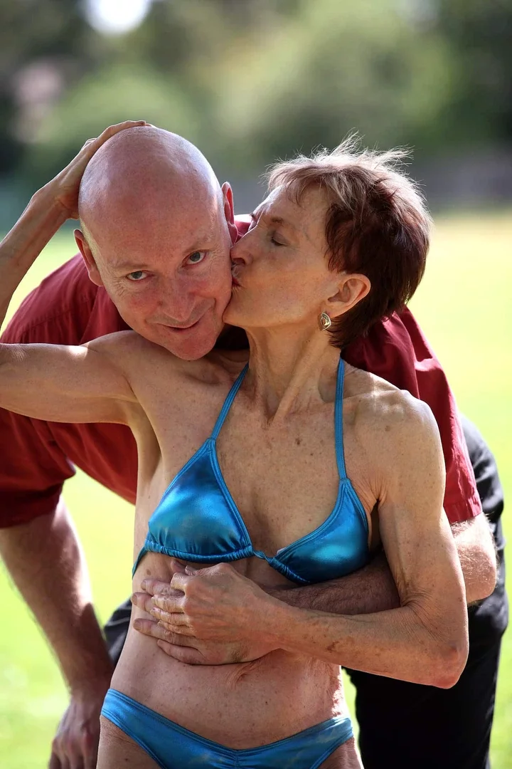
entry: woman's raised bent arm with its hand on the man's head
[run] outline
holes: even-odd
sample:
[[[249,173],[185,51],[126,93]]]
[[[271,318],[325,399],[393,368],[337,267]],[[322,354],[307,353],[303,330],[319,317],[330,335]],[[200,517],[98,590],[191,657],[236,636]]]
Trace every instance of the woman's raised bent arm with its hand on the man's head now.
[[[91,139],[48,185],[35,193],[0,243],[0,323],[21,278],[51,236],[78,215],[81,176],[94,152],[117,131],[111,126]],[[127,381],[112,359],[108,338],[83,347],[0,345],[0,406],[48,421],[125,421],[123,403],[133,401]]]

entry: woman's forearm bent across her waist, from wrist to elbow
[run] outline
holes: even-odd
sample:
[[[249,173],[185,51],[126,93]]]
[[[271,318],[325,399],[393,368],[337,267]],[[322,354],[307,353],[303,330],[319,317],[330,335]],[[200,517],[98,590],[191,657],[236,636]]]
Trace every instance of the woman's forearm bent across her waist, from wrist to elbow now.
[[[467,658],[467,628],[449,632],[421,607],[344,616],[290,607],[272,612],[273,644],[368,673],[442,688]]]

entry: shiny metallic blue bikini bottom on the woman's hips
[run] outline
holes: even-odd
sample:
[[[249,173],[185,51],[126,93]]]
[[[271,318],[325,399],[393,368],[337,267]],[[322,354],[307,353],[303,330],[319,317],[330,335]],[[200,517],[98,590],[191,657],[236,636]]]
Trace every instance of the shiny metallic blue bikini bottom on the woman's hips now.
[[[109,689],[101,714],[160,769],[317,769],[352,737],[350,718],[329,718],[284,740],[235,751],[184,729],[120,691]]]

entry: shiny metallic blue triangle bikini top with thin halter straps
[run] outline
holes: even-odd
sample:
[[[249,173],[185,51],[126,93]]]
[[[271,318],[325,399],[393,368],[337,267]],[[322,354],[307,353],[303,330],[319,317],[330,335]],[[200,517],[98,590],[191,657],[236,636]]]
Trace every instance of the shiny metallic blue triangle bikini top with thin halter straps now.
[[[164,553],[197,564],[217,564],[256,556],[299,584],[343,577],[368,562],[368,521],[345,472],[345,365],[342,358],[339,359],[335,401],[335,448],[339,471],[335,508],[318,528],[281,548],[273,558],[253,548],[249,531],[224,482],[216,454],[216,439],[246,371],[247,366],[230,389],[210,438],[206,438],[164,491],[148,521],[146,541],[133,573],[147,552]]]

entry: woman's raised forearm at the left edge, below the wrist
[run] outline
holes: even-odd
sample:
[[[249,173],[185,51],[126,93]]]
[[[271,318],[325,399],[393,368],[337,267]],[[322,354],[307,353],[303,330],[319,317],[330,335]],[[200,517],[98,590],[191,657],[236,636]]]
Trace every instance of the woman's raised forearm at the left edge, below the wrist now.
[[[5,235],[0,243],[0,325],[21,279],[67,218],[48,186],[43,187]]]

